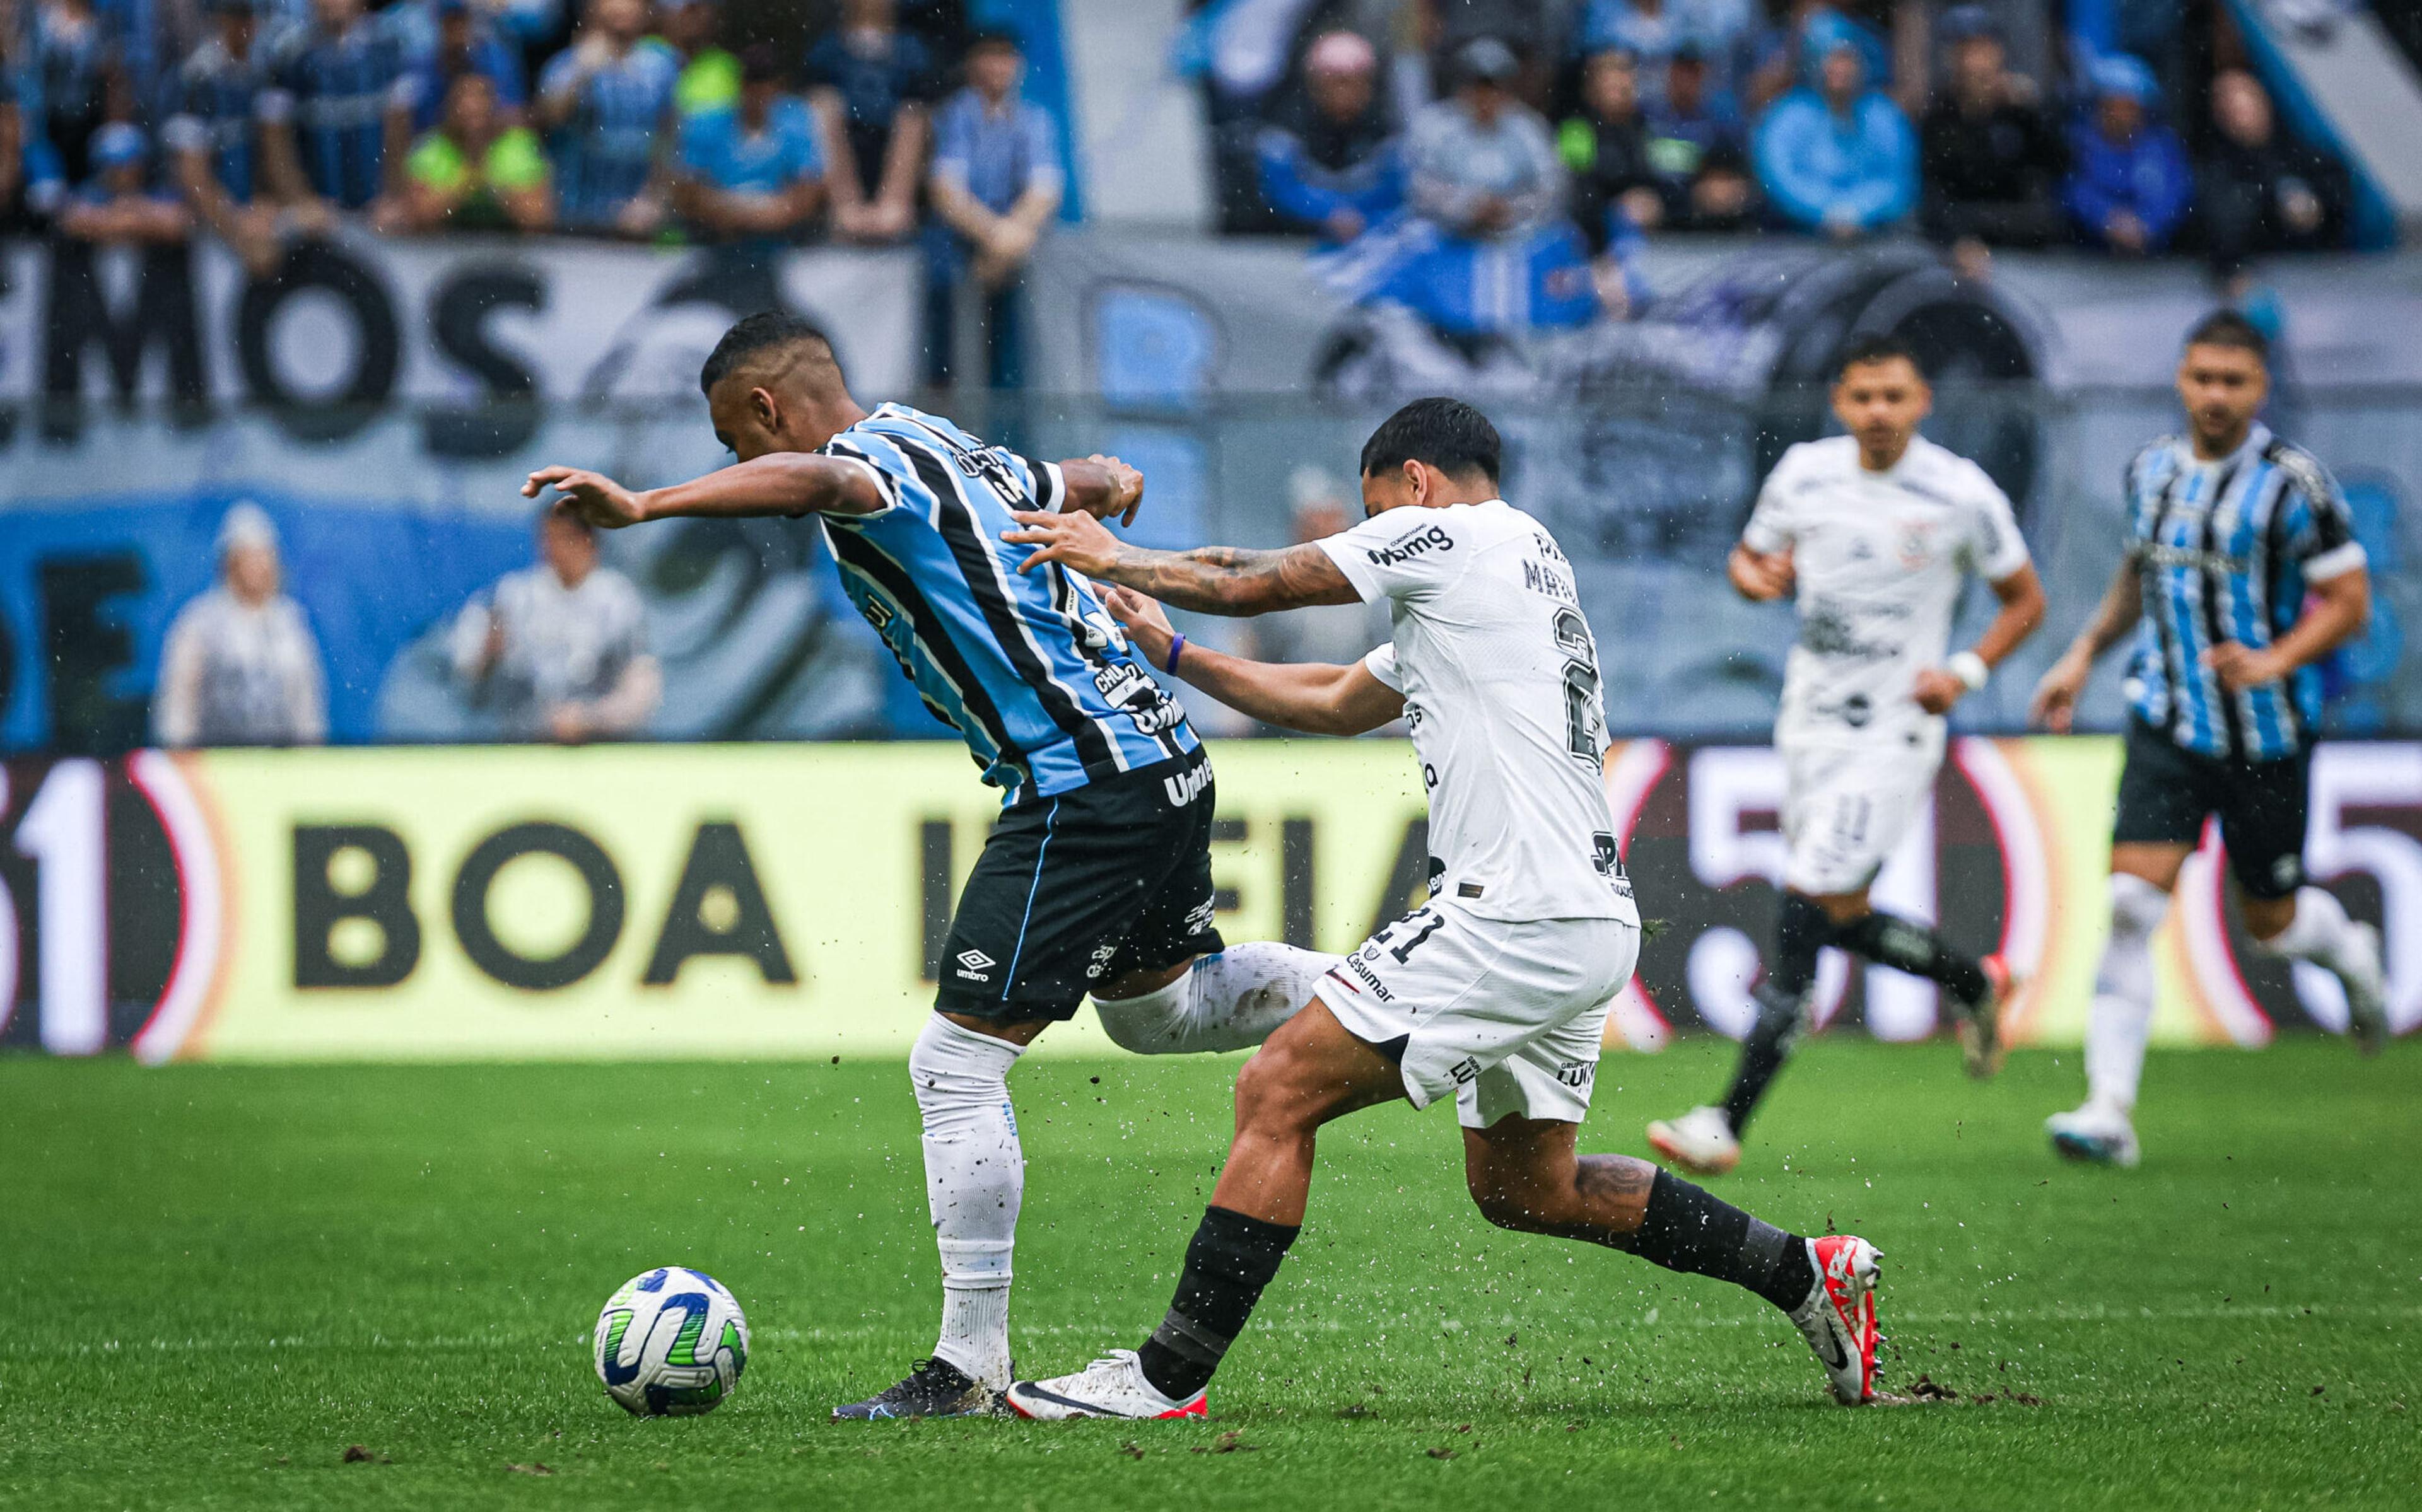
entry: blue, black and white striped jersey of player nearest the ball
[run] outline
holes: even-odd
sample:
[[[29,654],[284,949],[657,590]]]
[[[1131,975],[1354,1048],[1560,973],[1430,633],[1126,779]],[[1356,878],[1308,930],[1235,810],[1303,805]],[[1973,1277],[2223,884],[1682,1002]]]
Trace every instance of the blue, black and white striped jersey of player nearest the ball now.
[[[906,405],[823,456],[865,463],[884,494],[874,514],[821,516],[850,603],[1010,802],[1196,749],[1092,584],[1058,565],[1022,574],[1034,548],[1000,538],[1012,509],[1058,509],[1058,468]]]

